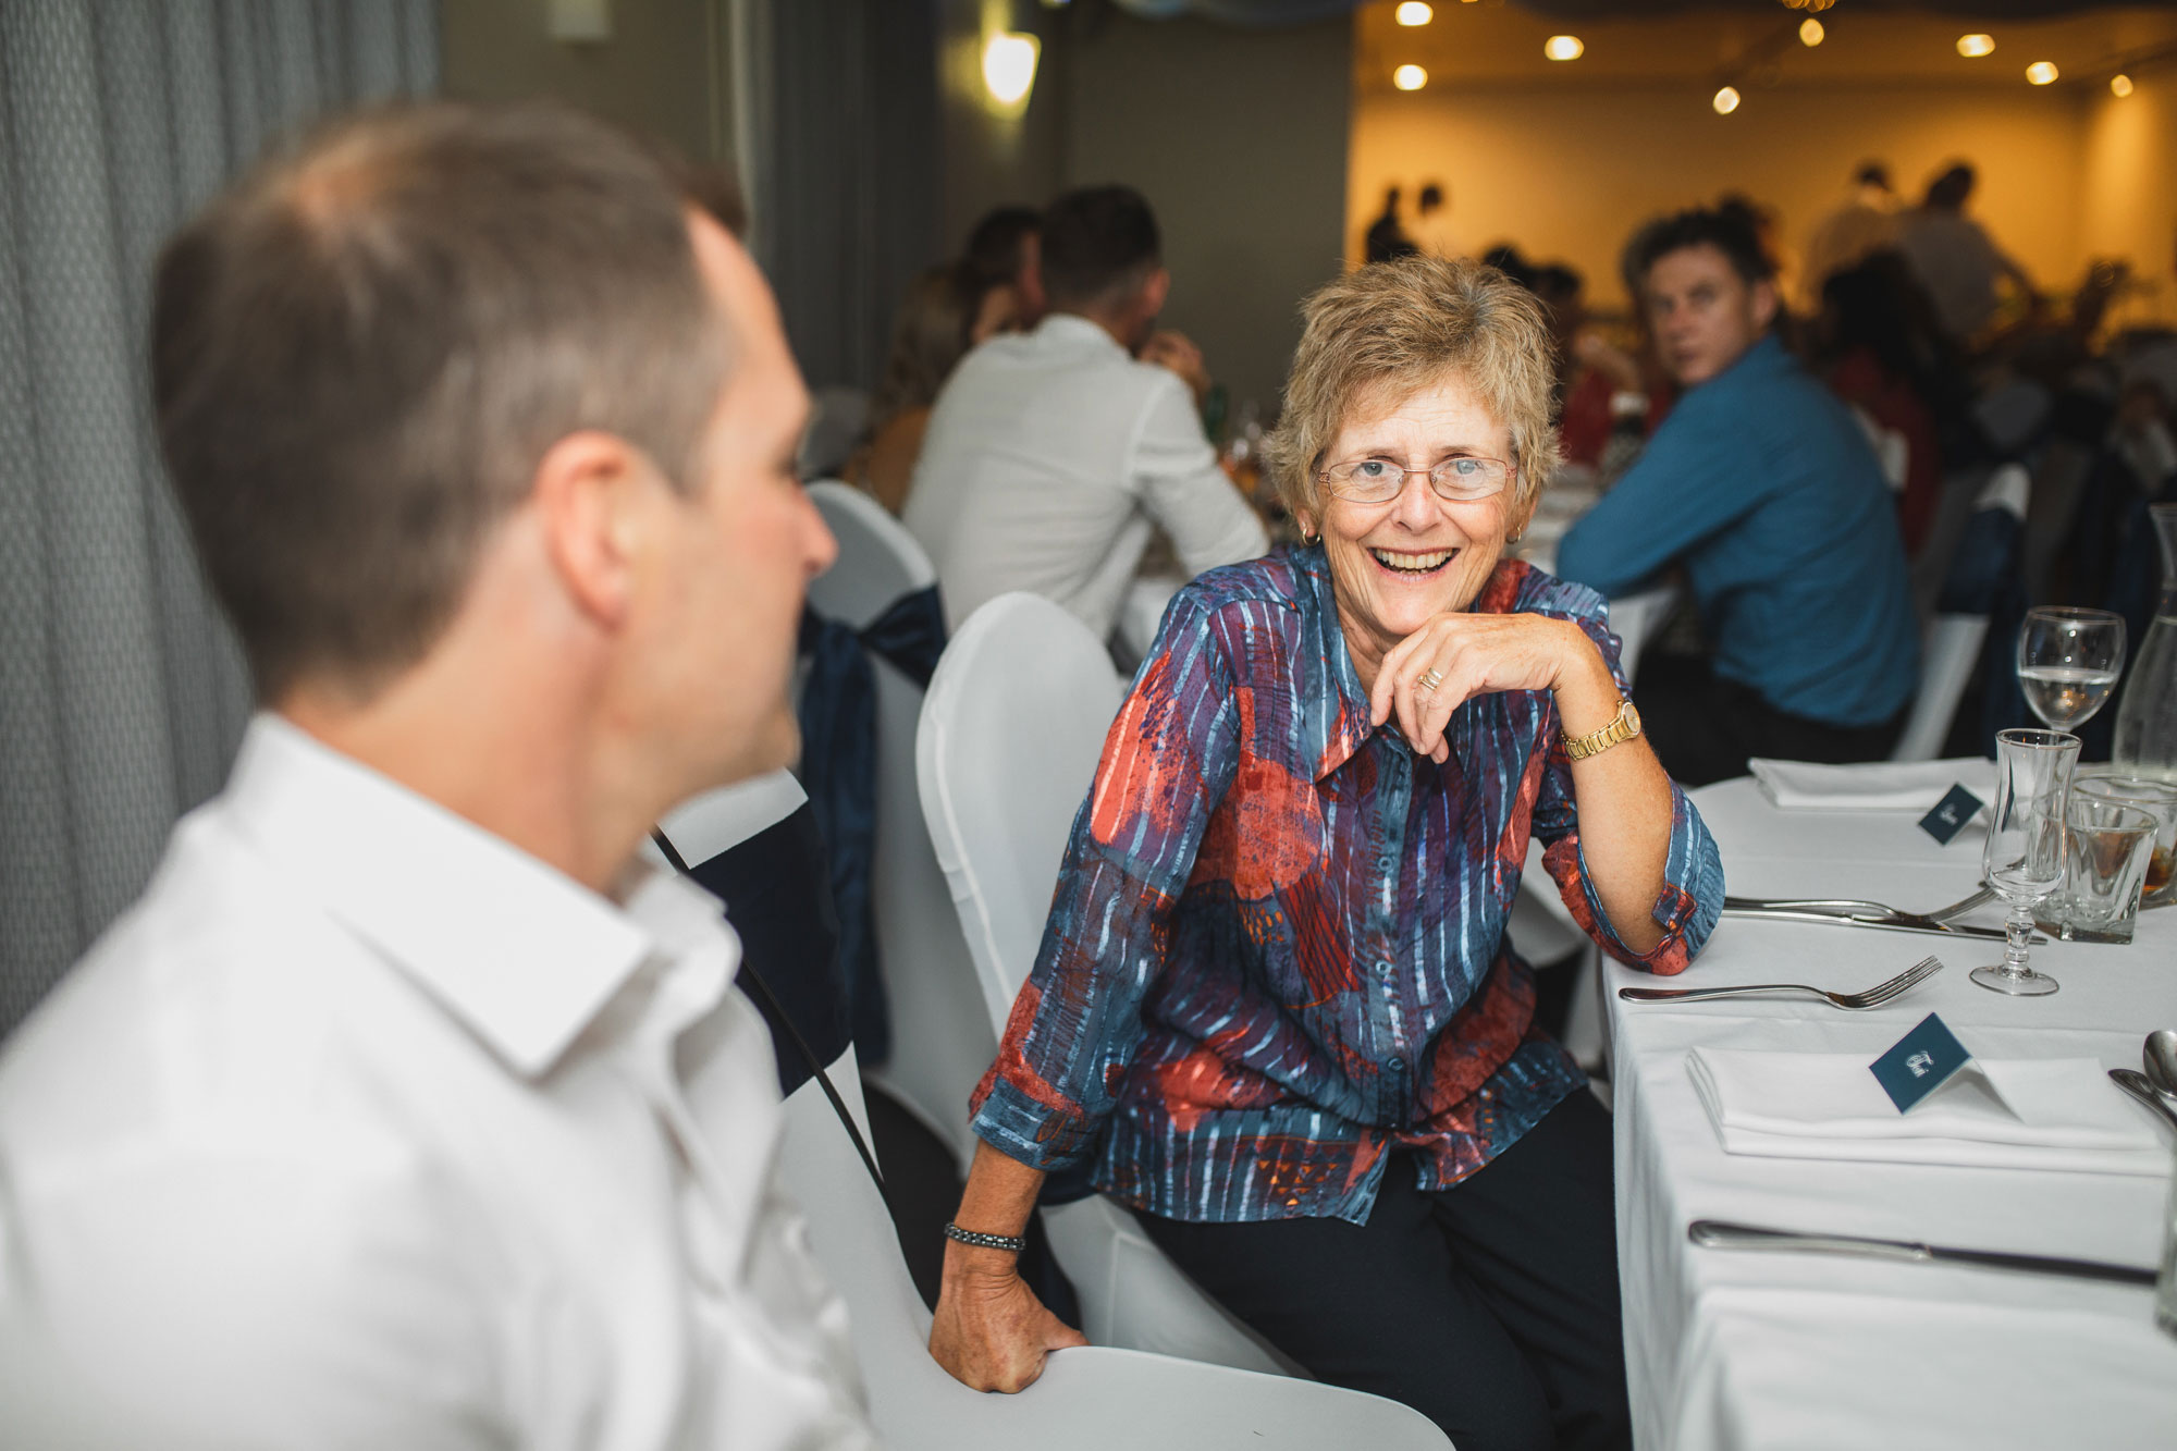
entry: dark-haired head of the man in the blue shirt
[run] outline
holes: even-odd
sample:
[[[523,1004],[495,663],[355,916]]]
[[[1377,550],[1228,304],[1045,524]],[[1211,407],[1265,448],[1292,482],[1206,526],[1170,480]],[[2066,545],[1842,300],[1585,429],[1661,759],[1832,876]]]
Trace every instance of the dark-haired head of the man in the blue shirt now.
[[[1624,272],[1657,355],[1685,388],[1735,364],[1776,320],[1776,268],[1744,209],[1648,222],[1626,244]]]

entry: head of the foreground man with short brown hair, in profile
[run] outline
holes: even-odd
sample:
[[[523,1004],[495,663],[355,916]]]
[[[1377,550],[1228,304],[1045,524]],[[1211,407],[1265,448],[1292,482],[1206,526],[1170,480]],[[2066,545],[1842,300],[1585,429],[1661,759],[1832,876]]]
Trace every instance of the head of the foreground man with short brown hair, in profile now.
[[[553,109],[333,124],[168,244],[152,392],[261,702],[457,695],[472,649],[642,739],[657,789],[790,760],[832,549],[790,473],[808,397],[640,144]]]

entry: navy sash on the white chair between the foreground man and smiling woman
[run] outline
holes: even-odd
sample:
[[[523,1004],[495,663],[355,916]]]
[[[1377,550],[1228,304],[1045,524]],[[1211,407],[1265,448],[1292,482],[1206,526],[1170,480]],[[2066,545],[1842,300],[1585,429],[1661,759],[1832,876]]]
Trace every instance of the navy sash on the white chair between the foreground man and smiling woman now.
[[[838,963],[847,980],[853,1050],[864,1068],[893,1050],[893,1022],[877,959],[871,876],[877,850],[877,675],[871,656],[919,686],[945,651],[945,608],[932,584],[901,595],[856,630],[814,610],[801,612],[801,789],[832,865],[838,909]]]

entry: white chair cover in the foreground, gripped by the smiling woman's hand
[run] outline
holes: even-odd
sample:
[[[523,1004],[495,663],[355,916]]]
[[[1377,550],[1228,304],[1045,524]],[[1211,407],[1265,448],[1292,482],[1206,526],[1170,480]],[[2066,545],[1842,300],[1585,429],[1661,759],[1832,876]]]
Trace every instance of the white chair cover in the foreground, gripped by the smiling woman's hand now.
[[[827,1072],[866,1135],[853,1048]],[[1104,1346],[1058,1351],[1043,1379],[1017,1397],[969,1390],[930,1359],[930,1309],[877,1187],[814,1081],[786,1100],[779,1168],[808,1216],[816,1257],[847,1301],[871,1418],[893,1451],[1450,1447],[1428,1418],[1395,1401]]]

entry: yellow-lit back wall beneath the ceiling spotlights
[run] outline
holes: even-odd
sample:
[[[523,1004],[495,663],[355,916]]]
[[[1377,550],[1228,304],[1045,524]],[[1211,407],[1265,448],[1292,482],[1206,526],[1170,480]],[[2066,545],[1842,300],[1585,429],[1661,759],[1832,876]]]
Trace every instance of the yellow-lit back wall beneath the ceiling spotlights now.
[[[1735,115],[1715,115],[1707,92],[1685,85],[1363,96],[1345,246],[1358,257],[1387,185],[1404,185],[1411,227],[1419,183],[1443,181],[1459,248],[1509,240],[1528,257],[1570,261],[1587,275],[1591,305],[1622,307],[1618,248],[1655,214],[1737,190],[1776,207],[1785,244],[1805,248],[1861,159],[1887,161],[1898,190],[1918,198],[1944,163],[1966,157],[1981,172],[1972,211],[2040,285],[2068,290],[2086,261],[2079,157],[2090,109],[2059,87],[1785,87],[1750,92]],[[2177,137],[2168,126],[2160,137],[2168,157]],[[2168,163],[2157,172],[2170,174]],[[2168,187],[2157,190],[2166,216]],[[2160,246],[2166,257],[2168,224]]]

